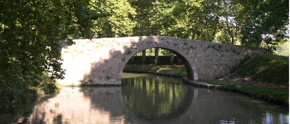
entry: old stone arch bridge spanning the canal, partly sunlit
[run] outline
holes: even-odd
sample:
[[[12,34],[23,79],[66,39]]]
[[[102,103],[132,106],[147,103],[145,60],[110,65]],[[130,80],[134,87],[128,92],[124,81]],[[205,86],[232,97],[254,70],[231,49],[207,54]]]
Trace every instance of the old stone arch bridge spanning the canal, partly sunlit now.
[[[122,71],[137,52],[158,47],[178,55],[190,81],[226,76],[247,56],[262,54],[263,49],[196,41],[165,36],[100,38],[74,40],[67,46],[60,41],[63,58],[63,85],[120,85]]]

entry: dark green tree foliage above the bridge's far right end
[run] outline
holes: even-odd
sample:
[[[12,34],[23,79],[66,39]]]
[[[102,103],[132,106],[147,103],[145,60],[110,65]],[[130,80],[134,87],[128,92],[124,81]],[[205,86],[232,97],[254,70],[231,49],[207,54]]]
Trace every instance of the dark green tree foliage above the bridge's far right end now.
[[[247,14],[242,28],[241,44],[261,47],[268,45],[276,50],[276,45],[289,38],[289,1],[286,0],[242,0],[239,1]],[[273,52],[273,51],[271,51]]]

